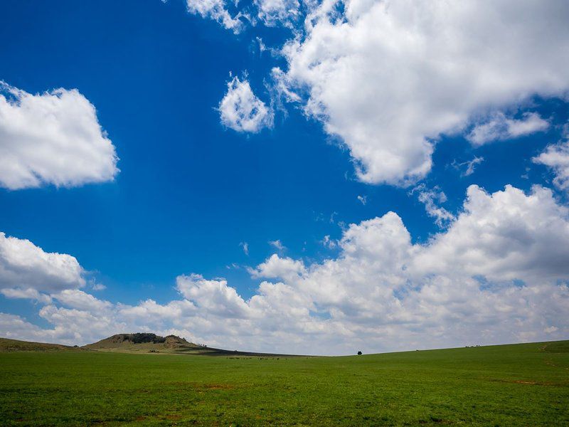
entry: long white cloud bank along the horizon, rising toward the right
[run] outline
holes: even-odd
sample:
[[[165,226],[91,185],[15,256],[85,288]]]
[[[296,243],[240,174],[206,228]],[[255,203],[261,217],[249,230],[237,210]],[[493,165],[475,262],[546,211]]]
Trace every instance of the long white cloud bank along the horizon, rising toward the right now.
[[[52,329],[0,314],[0,335],[75,344],[151,330],[230,349],[346,354],[569,333],[569,209],[541,186],[470,186],[456,219],[426,243],[389,212],[351,224],[338,244],[319,263],[272,255],[250,273],[280,281],[262,281],[248,300],[196,274],[179,276],[181,300],[165,304],[52,292],[39,311]]]

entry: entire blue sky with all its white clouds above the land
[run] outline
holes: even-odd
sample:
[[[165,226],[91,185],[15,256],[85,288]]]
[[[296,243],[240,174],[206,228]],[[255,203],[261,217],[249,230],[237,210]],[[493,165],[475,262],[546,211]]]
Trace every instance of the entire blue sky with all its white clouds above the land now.
[[[569,338],[569,4],[3,3],[0,336]]]

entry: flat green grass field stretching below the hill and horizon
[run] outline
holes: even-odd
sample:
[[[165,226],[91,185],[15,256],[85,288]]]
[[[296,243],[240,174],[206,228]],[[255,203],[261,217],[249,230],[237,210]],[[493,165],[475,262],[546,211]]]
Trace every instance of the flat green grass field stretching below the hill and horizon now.
[[[568,426],[569,342],[361,357],[0,353],[1,425],[91,423]]]

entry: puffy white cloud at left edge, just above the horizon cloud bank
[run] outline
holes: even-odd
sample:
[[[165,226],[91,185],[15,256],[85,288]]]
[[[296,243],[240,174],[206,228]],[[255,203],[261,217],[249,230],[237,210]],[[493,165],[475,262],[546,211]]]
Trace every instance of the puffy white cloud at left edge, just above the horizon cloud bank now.
[[[83,273],[84,270],[78,260],[71,255],[47,253],[31,241],[6,237],[6,234],[0,232],[0,288],[2,289],[56,292],[81,288],[85,285]],[[8,292],[12,297],[17,295],[15,291]]]

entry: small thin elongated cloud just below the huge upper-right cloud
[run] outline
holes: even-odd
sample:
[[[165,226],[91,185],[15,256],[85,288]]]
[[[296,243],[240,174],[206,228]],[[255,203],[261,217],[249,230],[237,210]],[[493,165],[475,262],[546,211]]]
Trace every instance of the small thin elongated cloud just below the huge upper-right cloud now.
[[[548,130],[549,122],[543,120],[536,112],[526,112],[521,119],[506,117],[504,113],[494,114],[490,120],[479,123],[467,135],[467,139],[474,145],[487,142],[501,141],[531,135],[536,132]]]

